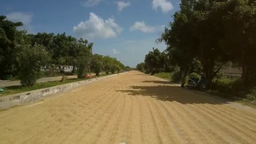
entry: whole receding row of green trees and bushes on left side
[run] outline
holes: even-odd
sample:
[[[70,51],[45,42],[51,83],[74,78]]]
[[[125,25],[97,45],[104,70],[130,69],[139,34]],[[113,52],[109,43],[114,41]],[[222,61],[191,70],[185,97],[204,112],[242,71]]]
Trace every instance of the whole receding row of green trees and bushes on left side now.
[[[27,34],[25,30],[17,30],[19,26],[22,26],[21,22],[14,23],[6,16],[0,16],[0,79],[18,76],[22,85],[34,85],[42,76],[41,66],[49,69],[48,76],[54,76],[57,67],[63,72],[61,67],[64,65],[72,65],[72,73],[77,68],[78,77],[83,77],[85,70],[93,70],[99,75],[101,71],[115,73],[129,69],[115,58],[92,56],[93,43],[83,38],[65,33]]]

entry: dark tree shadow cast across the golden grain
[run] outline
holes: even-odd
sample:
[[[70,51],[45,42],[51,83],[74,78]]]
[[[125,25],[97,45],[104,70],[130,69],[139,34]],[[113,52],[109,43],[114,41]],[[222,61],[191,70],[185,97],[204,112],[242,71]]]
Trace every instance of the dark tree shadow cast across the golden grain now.
[[[129,90],[120,91],[131,96],[149,96],[161,101],[177,101],[181,104],[224,104],[221,101],[208,96],[206,93],[188,90],[175,85],[156,86],[131,86]]]

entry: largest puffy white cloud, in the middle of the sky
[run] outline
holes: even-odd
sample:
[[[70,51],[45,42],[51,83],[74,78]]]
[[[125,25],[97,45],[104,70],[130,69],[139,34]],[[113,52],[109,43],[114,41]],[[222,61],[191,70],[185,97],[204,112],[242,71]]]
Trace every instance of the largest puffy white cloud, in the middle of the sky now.
[[[102,19],[95,13],[90,13],[90,18],[87,21],[81,21],[77,26],[73,28],[74,32],[80,37],[101,37],[110,38],[116,37],[123,30],[115,23],[115,19],[109,18],[107,20]]]

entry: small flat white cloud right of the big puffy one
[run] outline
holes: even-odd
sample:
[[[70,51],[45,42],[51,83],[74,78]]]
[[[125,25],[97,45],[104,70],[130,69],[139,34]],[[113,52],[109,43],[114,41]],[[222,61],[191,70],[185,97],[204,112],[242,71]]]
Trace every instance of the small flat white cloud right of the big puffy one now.
[[[136,21],[135,24],[130,27],[130,30],[131,31],[140,30],[141,32],[149,33],[149,32],[155,32],[156,31],[156,27],[147,26],[144,23],[144,21]]]

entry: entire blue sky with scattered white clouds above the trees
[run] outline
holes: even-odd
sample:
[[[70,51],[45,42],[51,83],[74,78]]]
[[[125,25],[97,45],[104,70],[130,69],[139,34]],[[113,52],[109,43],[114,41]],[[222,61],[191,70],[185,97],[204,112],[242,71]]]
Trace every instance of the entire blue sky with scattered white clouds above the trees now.
[[[0,15],[21,21],[28,33],[65,32],[93,42],[93,53],[136,67],[179,11],[180,0],[5,0]]]

